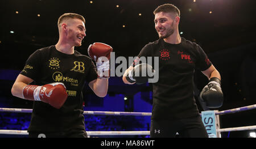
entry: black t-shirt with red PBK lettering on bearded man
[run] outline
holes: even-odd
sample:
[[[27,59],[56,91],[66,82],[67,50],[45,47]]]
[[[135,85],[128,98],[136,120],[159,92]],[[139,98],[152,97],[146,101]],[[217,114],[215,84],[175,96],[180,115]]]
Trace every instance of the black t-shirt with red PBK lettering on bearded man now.
[[[193,74],[195,69],[204,71],[212,65],[203,49],[183,37],[180,44],[168,44],[159,39],[145,45],[138,55],[139,58],[142,56],[159,57],[159,80],[152,85],[151,118],[180,119],[199,116],[193,96]]]

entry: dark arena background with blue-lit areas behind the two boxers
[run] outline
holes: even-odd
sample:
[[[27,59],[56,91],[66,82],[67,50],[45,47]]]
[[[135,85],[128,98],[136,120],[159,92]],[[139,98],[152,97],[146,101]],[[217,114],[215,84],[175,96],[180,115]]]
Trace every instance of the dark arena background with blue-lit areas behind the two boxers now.
[[[86,37],[80,53],[89,44],[112,45],[115,56],[137,56],[148,42],[158,39],[152,11],[172,3],[181,11],[182,37],[199,44],[222,76],[224,104],[216,110],[256,103],[255,1],[249,0],[3,0],[0,2],[0,108],[32,108],[32,102],[11,95],[16,76],[36,49],[56,44],[57,18],[65,12],[81,14],[86,20]],[[195,83],[201,89],[207,78],[196,70]],[[123,84],[109,79],[104,98],[84,88],[85,110],[151,112],[151,84]],[[126,99],[126,100],[125,100]],[[200,110],[200,104],[198,104]],[[221,117],[222,127],[255,125],[255,110]],[[27,130],[30,114],[0,113],[0,129]],[[85,116],[86,130],[149,130],[150,117]],[[222,137],[248,137],[249,131],[222,133]],[[137,136],[138,137],[138,136]],[[141,136],[144,137],[144,136]]]

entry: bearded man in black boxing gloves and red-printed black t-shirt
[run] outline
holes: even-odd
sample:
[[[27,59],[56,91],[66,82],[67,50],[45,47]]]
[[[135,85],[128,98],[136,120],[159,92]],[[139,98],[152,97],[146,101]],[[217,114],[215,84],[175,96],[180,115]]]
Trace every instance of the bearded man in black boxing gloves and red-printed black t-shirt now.
[[[203,49],[179,35],[180,10],[172,4],[158,6],[154,11],[155,29],[159,40],[148,43],[138,55],[159,57],[159,80],[153,83],[153,106],[150,137],[208,137],[194,99],[195,69],[209,78],[200,94],[209,108],[222,105],[220,73]],[[130,72],[138,59],[125,71],[123,82],[130,81]]]

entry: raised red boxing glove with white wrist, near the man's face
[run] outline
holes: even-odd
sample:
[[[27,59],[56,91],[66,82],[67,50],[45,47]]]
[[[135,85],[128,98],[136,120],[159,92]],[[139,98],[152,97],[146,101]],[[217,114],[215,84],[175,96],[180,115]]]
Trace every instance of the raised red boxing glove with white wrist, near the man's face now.
[[[109,78],[109,59],[112,51],[113,48],[110,45],[101,42],[94,42],[89,45],[88,54],[96,61],[98,78]]]

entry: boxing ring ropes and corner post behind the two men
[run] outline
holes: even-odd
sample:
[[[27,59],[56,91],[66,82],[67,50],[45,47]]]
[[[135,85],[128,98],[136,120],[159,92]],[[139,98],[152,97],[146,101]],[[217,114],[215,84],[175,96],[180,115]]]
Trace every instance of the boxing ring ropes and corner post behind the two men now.
[[[207,129],[208,132],[208,127],[212,129],[214,128],[214,132],[216,132],[216,134],[211,134],[208,132],[208,135],[210,138],[221,138],[221,133],[222,132],[226,132],[226,131],[242,131],[242,130],[255,130],[256,129],[256,125],[253,126],[241,126],[241,127],[229,127],[229,128],[221,128],[220,126],[220,116],[224,115],[224,114],[232,114],[232,113],[237,113],[237,112],[242,112],[245,110],[251,110],[251,109],[255,109],[256,108],[256,104],[254,105],[249,105],[246,107],[240,107],[240,108],[234,108],[234,109],[229,109],[229,110],[222,110],[222,111],[218,111],[218,110],[211,110],[211,111],[206,111],[214,113],[213,117],[213,122],[214,122],[214,126],[212,125],[207,125],[205,124],[205,127]],[[32,109],[17,109],[17,108],[0,108],[0,112],[14,112],[14,113],[32,113]],[[109,112],[109,111],[84,111],[83,113],[84,115],[104,115],[104,116],[151,116],[150,112]],[[205,120],[207,120],[205,117],[203,120],[203,112],[200,113],[200,115],[202,116],[202,121],[204,122]],[[209,113],[207,115],[210,115]],[[88,134],[88,137],[96,135],[96,136],[100,136],[100,135],[150,135],[150,131],[86,131],[86,133]],[[6,135],[28,135],[27,130],[0,130],[0,134],[6,134]]]

